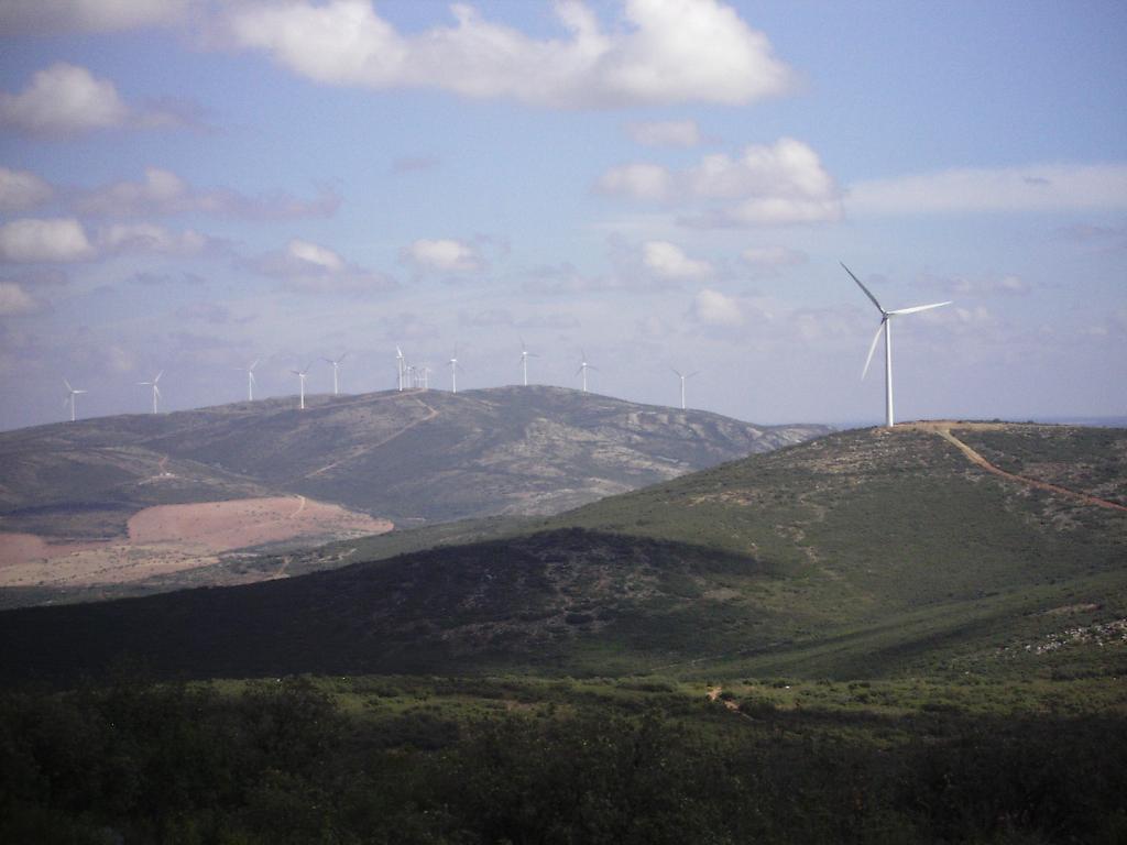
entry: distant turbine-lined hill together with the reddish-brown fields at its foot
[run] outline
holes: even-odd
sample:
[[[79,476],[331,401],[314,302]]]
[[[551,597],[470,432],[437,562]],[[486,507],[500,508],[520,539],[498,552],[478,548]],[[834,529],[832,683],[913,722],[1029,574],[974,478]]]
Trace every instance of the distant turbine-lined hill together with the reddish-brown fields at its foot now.
[[[558,388],[274,399],[0,435],[0,605],[291,571],[256,552],[553,514],[825,432]],[[219,502],[219,504],[206,504]],[[329,564],[307,557],[303,568]]]

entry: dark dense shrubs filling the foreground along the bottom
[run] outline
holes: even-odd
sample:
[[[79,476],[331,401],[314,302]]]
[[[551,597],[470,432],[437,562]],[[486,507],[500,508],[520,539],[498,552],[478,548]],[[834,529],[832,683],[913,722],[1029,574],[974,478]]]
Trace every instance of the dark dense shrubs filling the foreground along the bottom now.
[[[781,686],[781,684],[780,684]],[[1116,843],[1121,718],[752,718],[660,682],[356,678],[0,697],[0,839]],[[441,701],[447,706],[435,705]],[[350,704],[350,706],[349,706]],[[451,709],[452,708],[452,709]]]

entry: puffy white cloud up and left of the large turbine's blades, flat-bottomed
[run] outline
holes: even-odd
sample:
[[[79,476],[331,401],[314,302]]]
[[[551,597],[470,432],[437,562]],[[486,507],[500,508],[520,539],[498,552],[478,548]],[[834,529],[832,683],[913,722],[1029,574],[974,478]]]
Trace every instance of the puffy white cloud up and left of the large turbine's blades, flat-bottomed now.
[[[685,220],[698,226],[819,223],[842,216],[840,192],[818,154],[790,137],[751,144],[738,158],[706,155],[681,172],[646,163],[613,168],[597,188],[639,201],[711,203],[703,214]]]

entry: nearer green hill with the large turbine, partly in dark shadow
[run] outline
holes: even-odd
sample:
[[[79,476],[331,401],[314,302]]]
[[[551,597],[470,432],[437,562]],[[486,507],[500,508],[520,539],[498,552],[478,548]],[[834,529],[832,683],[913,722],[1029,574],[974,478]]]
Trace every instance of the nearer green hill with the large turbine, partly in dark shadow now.
[[[3,613],[5,670],[68,676],[127,655],[198,676],[1124,671],[1125,454],[1122,429],[833,434],[516,536]]]

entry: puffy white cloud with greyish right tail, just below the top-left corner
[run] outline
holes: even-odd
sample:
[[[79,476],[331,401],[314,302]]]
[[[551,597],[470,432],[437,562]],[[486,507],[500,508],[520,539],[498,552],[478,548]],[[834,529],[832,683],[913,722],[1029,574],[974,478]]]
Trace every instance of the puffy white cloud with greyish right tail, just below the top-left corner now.
[[[184,123],[184,116],[172,110],[131,108],[113,82],[66,62],[37,71],[20,94],[0,91],[0,126],[29,135],[63,137],[96,130]]]

